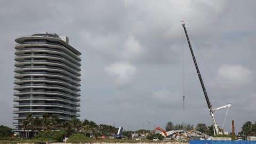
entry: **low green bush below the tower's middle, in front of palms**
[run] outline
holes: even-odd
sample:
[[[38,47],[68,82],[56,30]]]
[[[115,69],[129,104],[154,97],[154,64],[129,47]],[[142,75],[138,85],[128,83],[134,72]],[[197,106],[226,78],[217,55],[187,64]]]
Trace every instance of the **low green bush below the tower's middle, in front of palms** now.
[[[36,135],[36,141],[62,142],[67,134],[66,131],[41,131]]]

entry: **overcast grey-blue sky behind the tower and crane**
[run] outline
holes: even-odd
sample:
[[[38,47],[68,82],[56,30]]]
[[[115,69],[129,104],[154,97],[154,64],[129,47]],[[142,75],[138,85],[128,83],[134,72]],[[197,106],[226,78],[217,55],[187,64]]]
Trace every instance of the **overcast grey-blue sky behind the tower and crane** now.
[[[249,0],[0,0],[0,124],[15,122],[14,39],[43,31],[82,53],[81,120],[125,130],[210,126],[183,20],[213,107],[231,103],[224,129],[234,119],[237,133],[256,120],[255,14]],[[215,111],[220,127],[226,113]]]

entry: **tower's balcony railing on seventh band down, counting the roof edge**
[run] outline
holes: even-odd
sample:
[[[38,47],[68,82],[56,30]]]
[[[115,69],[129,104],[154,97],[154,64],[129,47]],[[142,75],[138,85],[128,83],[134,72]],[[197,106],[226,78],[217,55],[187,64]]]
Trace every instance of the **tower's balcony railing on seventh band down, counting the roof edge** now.
[[[67,81],[71,81],[73,83],[78,84],[79,86],[81,86],[81,83],[75,81],[74,79],[71,79],[70,77],[67,77],[65,75],[62,74],[57,74],[57,73],[46,73],[46,72],[25,72],[25,73],[17,73],[14,76],[22,76],[22,75],[51,75],[51,76],[57,76],[57,77],[63,77],[65,78]],[[16,79],[18,80],[18,79]],[[18,81],[17,81],[18,82]]]

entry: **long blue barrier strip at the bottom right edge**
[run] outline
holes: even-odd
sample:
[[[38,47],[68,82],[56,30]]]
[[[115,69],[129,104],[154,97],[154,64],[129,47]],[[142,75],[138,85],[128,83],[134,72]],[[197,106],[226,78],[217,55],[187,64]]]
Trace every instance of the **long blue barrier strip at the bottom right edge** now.
[[[231,140],[190,140],[190,144],[256,144],[256,141],[231,141]]]

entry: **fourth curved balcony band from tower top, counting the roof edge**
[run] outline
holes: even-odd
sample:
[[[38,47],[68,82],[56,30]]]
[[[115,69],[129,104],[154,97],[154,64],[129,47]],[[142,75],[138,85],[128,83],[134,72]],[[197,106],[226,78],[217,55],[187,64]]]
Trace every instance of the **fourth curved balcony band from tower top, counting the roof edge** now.
[[[23,61],[23,59],[27,59],[27,58],[47,58],[47,59],[51,59],[51,60],[59,60],[63,63],[66,63],[66,65],[68,66],[72,66],[73,69],[77,69],[77,71],[81,71],[81,69],[79,68],[79,66],[77,66],[75,63],[60,57],[58,55],[52,55],[52,54],[21,54],[21,55],[17,55],[15,56],[15,61],[17,62],[21,62]],[[16,62],[15,62],[16,64]],[[18,64],[18,63],[17,63]]]

